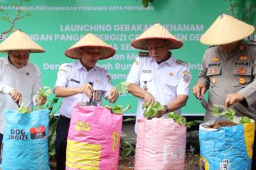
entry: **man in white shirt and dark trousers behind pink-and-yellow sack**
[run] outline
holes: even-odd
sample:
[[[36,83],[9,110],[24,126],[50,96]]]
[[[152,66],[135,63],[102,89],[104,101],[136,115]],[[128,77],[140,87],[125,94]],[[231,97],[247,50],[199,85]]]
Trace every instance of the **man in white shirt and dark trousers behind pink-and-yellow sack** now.
[[[63,97],[55,141],[57,170],[65,170],[68,129],[75,104],[90,101],[95,90],[102,91],[102,96],[111,103],[117,101],[118,92],[112,85],[110,74],[95,65],[98,60],[112,57],[114,53],[114,48],[91,33],[65,51],[66,56],[78,61],[60,66],[53,90],[55,96]]]

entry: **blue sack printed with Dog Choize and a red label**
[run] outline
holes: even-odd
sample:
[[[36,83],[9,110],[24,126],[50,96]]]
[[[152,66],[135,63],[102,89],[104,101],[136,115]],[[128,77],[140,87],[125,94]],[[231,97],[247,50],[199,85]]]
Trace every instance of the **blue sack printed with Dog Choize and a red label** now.
[[[31,113],[5,110],[2,170],[50,170],[49,112],[45,109]]]

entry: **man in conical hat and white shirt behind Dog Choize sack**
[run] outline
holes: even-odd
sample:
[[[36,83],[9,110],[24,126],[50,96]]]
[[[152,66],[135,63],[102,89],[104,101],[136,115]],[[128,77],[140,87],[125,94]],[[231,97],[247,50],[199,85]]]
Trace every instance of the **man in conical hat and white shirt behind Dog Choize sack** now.
[[[0,52],[8,57],[0,58],[0,146],[3,140],[4,110],[16,110],[21,104],[32,111],[33,103],[43,105],[46,98],[37,96],[41,88],[41,72],[28,62],[31,52],[45,52],[21,30],[16,30],[0,44]],[[1,148],[0,148],[1,151]]]

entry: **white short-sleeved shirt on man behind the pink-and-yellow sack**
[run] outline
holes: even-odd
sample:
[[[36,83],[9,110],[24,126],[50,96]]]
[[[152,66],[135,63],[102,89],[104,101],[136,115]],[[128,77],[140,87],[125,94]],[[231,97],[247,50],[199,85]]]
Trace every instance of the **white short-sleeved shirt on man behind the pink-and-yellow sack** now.
[[[55,87],[78,88],[89,82],[93,83],[94,90],[101,90],[104,97],[107,97],[109,91],[113,88],[112,79],[106,69],[95,66],[87,72],[87,69],[82,66],[80,60],[60,66]],[[71,118],[73,107],[79,101],[87,102],[90,101],[90,98],[85,94],[75,94],[63,98],[63,103],[60,106],[60,115]]]

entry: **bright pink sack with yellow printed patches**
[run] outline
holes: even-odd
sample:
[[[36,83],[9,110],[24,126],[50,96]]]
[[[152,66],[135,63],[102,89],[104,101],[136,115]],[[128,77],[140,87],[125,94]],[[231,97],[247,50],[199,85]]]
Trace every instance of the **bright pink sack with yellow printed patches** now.
[[[122,114],[99,106],[75,106],[68,131],[66,169],[116,170]]]

